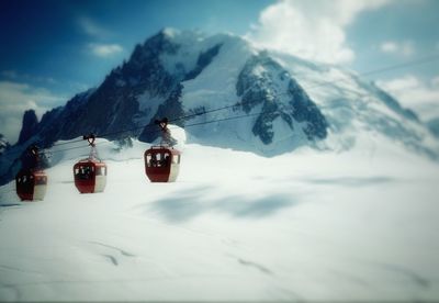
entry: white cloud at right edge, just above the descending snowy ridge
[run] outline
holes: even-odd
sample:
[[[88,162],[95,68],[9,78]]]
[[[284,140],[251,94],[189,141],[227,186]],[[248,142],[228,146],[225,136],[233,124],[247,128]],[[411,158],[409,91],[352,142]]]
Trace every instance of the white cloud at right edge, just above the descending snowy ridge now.
[[[421,120],[439,117],[439,75],[428,82],[406,75],[378,85],[394,96],[403,106],[414,110]]]

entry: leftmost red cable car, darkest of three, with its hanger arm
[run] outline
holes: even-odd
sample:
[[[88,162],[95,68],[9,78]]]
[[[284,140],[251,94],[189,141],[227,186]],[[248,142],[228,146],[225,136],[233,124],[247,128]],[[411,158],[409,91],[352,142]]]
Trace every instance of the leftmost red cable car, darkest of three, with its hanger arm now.
[[[38,148],[32,146],[29,149],[33,157],[33,168],[23,168],[15,176],[16,194],[21,201],[44,200],[47,189],[47,176],[38,168]]]

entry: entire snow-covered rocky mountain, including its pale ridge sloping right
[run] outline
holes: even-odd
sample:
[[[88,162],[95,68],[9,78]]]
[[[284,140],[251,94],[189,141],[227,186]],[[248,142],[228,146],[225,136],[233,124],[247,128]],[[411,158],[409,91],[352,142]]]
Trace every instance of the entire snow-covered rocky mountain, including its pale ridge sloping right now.
[[[49,146],[89,133],[153,142],[158,133],[144,126],[164,116],[184,127],[189,142],[263,156],[304,145],[346,150],[364,132],[431,158],[439,150],[414,112],[354,72],[260,50],[230,34],[171,29],[38,123],[26,112],[19,144]]]

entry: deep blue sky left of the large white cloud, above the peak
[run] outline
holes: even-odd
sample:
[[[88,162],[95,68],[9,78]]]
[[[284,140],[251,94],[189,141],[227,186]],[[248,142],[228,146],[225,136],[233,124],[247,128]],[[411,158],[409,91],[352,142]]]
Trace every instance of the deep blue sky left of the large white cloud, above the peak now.
[[[47,79],[46,86],[59,93],[76,92],[98,85],[111,68],[130,56],[135,44],[165,26],[245,34],[248,24],[269,3],[251,0],[1,1],[0,41],[8,47],[0,48],[0,72],[2,79],[8,76]]]

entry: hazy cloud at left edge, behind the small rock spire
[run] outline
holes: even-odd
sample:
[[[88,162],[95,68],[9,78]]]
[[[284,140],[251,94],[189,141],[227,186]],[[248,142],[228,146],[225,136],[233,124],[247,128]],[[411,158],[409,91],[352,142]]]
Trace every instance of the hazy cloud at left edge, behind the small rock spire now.
[[[33,109],[41,117],[47,110],[61,104],[65,97],[26,83],[0,81],[0,132],[10,143],[19,138],[23,113]]]

